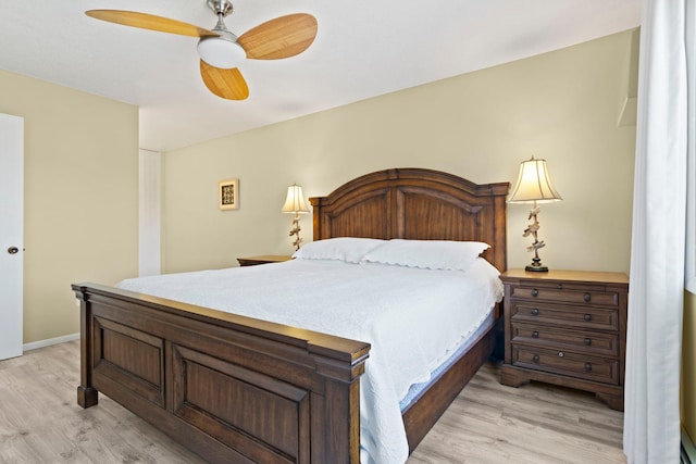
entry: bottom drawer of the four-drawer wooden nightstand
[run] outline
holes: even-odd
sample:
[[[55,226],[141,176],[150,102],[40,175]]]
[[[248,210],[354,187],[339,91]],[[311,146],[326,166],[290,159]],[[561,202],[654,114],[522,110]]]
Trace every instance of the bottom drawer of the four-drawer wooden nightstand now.
[[[619,384],[619,360],[586,356],[566,351],[534,349],[514,344],[512,365],[585,380]]]

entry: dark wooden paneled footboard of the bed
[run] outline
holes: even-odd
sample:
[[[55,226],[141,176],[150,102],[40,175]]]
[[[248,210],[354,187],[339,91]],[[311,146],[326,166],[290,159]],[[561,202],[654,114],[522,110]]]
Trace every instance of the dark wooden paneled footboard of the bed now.
[[[82,385],[210,462],[359,463],[370,344],[94,284]]]

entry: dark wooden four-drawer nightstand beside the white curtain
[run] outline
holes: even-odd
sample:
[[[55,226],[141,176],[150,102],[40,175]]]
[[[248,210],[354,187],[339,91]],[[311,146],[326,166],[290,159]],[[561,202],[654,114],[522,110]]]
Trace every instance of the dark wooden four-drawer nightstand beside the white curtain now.
[[[510,269],[500,383],[545,381],[594,392],[623,411],[629,277]]]

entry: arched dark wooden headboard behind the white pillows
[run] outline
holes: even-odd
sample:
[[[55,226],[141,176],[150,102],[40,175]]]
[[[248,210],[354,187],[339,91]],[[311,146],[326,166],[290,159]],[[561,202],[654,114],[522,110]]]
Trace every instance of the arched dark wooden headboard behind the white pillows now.
[[[310,198],[314,240],[332,237],[477,240],[483,256],[507,268],[506,196],[509,183],[477,185],[424,168],[393,168],[350,180]]]

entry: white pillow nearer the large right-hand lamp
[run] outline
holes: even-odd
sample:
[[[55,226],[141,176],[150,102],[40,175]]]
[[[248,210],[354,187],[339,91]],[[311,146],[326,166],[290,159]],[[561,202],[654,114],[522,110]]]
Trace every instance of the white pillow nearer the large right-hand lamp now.
[[[488,243],[481,241],[394,239],[368,252],[362,262],[465,271],[488,248]]]

